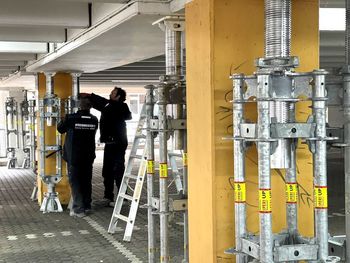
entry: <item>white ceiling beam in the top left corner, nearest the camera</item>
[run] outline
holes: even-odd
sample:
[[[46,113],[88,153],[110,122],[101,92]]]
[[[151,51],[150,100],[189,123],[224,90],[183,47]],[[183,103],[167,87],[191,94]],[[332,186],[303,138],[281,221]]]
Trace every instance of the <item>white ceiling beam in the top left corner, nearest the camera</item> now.
[[[89,26],[89,5],[79,2],[1,0],[0,25],[85,28]]]

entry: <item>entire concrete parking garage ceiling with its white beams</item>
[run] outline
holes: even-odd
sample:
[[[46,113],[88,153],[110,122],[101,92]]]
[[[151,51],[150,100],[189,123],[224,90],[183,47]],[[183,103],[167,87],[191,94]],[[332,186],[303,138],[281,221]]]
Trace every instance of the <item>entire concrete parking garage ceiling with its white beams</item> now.
[[[42,71],[81,71],[86,83],[154,81],[164,73],[164,33],[151,24],[189,1],[1,0],[0,85]],[[342,63],[344,32],[322,31],[320,66]]]

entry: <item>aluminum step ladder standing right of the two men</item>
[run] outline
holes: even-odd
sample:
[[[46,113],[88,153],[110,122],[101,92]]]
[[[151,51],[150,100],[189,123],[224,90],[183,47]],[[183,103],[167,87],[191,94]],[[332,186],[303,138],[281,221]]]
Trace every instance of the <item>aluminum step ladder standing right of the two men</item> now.
[[[136,129],[133,145],[130,151],[129,160],[123,175],[118,197],[115,202],[113,214],[108,227],[108,233],[114,234],[117,229],[118,221],[121,220],[126,222],[126,228],[125,228],[124,238],[123,238],[124,241],[131,240],[131,235],[134,228],[137,210],[140,202],[143,181],[145,179],[145,174],[146,174],[146,168],[147,168],[147,160],[145,159],[146,136],[142,133],[145,123],[146,123],[146,107],[144,104],[141,110],[140,119],[137,124],[137,129]],[[141,155],[137,154],[137,150],[139,148],[142,149]],[[139,162],[137,162],[137,160],[139,160]],[[133,174],[132,170],[136,164],[138,165],[138,172],[137,174]],[[130,183],[133,183],[133,185],[131,185]],[[130,195],[128,192],[132,192],[132,195]],[[131,202],[128,215],[121,214],[122,207],[125,206],[124,201]]]

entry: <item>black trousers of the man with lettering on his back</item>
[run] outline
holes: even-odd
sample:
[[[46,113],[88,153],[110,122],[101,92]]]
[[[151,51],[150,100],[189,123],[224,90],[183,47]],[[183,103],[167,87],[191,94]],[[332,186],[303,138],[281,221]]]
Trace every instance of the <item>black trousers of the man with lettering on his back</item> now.
[[[68,165],[69,184],[72,189],[74,212],[91,209],[92,163]]]

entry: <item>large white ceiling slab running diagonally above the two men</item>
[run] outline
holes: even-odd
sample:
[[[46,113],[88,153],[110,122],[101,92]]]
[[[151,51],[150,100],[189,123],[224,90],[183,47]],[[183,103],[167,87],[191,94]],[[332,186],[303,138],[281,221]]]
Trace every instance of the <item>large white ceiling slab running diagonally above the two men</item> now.
[[[164,32],[152,22],[169,13],[167,3],[133,3],[26,69],[96,72],[163,54]]]

